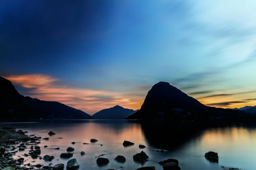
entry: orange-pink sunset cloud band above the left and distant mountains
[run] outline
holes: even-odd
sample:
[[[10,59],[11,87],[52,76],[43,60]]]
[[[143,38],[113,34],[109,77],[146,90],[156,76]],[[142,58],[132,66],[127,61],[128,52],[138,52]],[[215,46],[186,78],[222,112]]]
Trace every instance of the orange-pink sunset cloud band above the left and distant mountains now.
[[[5,77],[14,85],[28,88],[30,97],[45,101],[57,101],[71,106],[88,114],[120,105],[131,109],[140,109],[144,97],[130,96],[129,93],[98,91],[83,88],[74,88],[65,85],[56,85],[59,79],[41,74],[16,75]]]

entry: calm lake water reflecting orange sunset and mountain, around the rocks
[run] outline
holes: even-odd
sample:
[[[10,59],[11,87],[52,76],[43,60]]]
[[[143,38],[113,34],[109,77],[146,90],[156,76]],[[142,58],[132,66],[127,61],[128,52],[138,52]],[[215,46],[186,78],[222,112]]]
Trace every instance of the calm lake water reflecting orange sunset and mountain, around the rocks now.
[[[52,166],[58,163],[66,163],[69,159],[61,159],[60,154],[66,152],[68,147],[75,149],[73,158],[80,164],[79,169],[115,169],[134,170],[142,166],[155,166],[161,170],[162,166],[157,162],[168,158],[179,160],[181,170],[219,170],[220,166],[239,167],[246,170],[254,170],[256,167],[256,125],[230,124],[228,126],[208,127],[198,129],[193,126],[171,125],[164,122],[140,122],[128,120],[48,120],[40,122],[0,123],[0,126],[11,126],[28,131],[27,135],[49,137],[49,140],[41,140],[41,156],[52,155],[51,162],[36,159],[34,163],[29,157],[24,157],[27,163]],[[49,136],[53,131],[56,135]],[[63,139],[58,139],[63,137]],[[90,139],[98,140],[91,143]],[[124,147],[124,140],[134,143],[134,146]],[[72,145],[71,142],[76,142]],[[83,143],[89,143],[84,145]],[[102,144],[103,146],[101,146]],[[145,149],[139,149],[139,145],[145,145]],[[48,148],[43,146],[47,145]],[[29,146],[28,146],[29,147]],[[53,148],[59,147],[60,150]],[[157,152],[156,149],[164,149]],[[28,153],[28,150],[19,151],[14,156]],[[132,157],[136,153],[144,151],[149,156],[149,161],[144,164],[134,162]],[[80,152],[86,152],[81,156]],[[218,163],[209,162],[204,158],[205,152],[218,152]],[[96,156],[106,154],[110,163],[106,166],[96,164]],[[114,161],[117,155],[126,158],[125,163]],[[71,158],[70,158],[71,159]],[[123,168],[120,168],[122,166]]]

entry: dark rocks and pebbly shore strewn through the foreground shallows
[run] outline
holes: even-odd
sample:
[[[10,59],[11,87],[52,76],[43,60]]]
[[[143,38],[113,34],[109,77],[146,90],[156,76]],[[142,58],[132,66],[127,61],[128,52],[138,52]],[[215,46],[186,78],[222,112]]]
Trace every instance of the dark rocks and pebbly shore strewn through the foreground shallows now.
[[[25,163],[26,160],[24,160],[25,157],[30,156],[32,159],[43,159],[45,161],[51,161],[54,159],[54,156],[50,155],[44,155],[43,157],[40,156],[41,153],[41,148],[38,146],[40,144],[41,137],[37,137],[34,135],[25,135],[28,132],[23,132],[22,130],[16,131],[14,128],[9,128],[9,127],[3,127],[0,128],[0,170],[28,170],[28,169],[37,169],[37,170],[61,170],[64,169],[64,164],[59,163],[54,166],[51,166],[52,163],[49,163],[49,166],[43,166],[42,164],[30,164],[30,163]],[[55,135],[53,132],[49,132],[48,135]],[[44,140],[48,140],[49,138],[44,138]],[[91,142],[97,142],[98,140],[96,139],[91,139]],[[12,145],[17,145],[20,144],[19,146],[12,146]],[[72,142],[72,144],[75,144],[75,142]],[[85,143],[84,143],[85,144]],[[124,141],[123,146],[131,146],[134,145],[134,143],[129,142],[129,141]],[[47,146],[44,146],[44,148],[47,148]],[[145,148],[144,145],[140,145],[139,148]],[[15,155],[19,151],[23,151],[25,149],[30,149],[28,154],[23,154],[23,156],[18,156],[18,159],[14,159],[13,155]],[[58,148],[55,148],[58,149]],[[71,158],[73,156],[72,153],[69,153],[68,151],[74,151],[74,148],[68,147],[66,153],[62,153],[60,155],[61,158]],[[86,154],[84,151],[81,151],[81,155]],[[103,158],[103,155],[99,155],[96,163],[101,166],[101,165],[106,165],[110,161],[107,158]],[[137,153],[133,156],[133,160],[135,162],[145,162],[148,160],[148,156],[144,151],[141,151],[140,153]],[[210,160],[210,161],[216,161],[218,160],[218,153],[215,152],[207,152],[205,153],[205,158]],[[117,162],[125,162],[126,158],[122,155],[118,155],[114,161]],[[33,161],[33,163],[36,161]],[[176,159],[167,159],[164,161],[159,162],[160,165],[162,165],[163,170],[180,170],[179,167],[179,161]],[[77,163],[77,159],[73,158],[70,159],[67,162],[66,169],[78,169],[79,164]],[[222,166],[224,170],[243,170],[240,168],[225,168]],[[81,168],[80,168],[81,169]],[[113,169],[109,169],[113,170]],[[148,167],[141,167],[136,170],[155,170],[154,166],[148,166]]]

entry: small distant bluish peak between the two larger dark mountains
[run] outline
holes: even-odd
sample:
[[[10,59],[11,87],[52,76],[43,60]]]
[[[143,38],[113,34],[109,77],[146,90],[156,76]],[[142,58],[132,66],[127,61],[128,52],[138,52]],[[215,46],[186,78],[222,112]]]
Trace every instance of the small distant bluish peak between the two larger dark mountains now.
[[[125,119],[138,110],[132,110],[121,106],[103,109],[93,115],[94,119]]]

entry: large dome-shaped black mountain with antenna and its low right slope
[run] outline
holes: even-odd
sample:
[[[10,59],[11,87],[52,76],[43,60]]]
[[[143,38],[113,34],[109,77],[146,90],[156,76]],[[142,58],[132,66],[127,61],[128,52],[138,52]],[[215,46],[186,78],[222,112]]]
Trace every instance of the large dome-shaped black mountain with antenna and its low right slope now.
[[[209,116],[224,115],[231,118],[241,113],[239,110],[205,106],[169,83],[161,81],[148,91],[141,109],[127,119],[158,119],[162,116],[170,119],[175,116],[177,118],[177,115],[188,116],[189,112],[193,113],[195,119],[206,120],[209,120]]]

